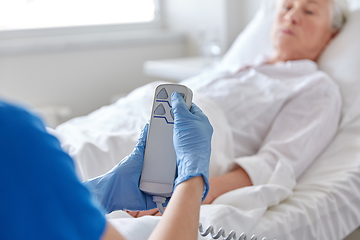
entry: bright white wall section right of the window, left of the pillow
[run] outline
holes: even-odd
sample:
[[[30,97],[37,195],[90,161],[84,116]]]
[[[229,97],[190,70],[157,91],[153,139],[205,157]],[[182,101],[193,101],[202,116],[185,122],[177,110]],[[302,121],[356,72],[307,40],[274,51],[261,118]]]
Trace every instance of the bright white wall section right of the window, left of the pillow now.
[[[187,55],[198,54],[199,26],[214,29],[226,51],[263,0],[166,0],[166,26],[187,33]]]

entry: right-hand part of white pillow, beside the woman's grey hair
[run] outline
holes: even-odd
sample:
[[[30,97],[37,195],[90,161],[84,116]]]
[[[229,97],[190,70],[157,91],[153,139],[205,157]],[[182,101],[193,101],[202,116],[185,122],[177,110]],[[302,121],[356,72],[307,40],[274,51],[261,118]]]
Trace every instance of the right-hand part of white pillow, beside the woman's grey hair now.
[[[343,97],[341,127],[360,114],[360,9],[321,55],[318,63],[338,84]]]

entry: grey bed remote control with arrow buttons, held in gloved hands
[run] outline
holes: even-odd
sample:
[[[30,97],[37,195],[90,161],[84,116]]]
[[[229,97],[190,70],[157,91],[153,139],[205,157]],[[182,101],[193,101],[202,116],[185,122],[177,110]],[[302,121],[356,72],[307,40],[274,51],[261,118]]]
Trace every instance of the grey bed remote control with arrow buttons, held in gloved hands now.
[[[173,145],[174,115],[171,94],[180,93],[190,109],[192,91],[180,84],[156,87],[146,141],[140,190],[161,197],[170,197],[176,173],[176,153]]]

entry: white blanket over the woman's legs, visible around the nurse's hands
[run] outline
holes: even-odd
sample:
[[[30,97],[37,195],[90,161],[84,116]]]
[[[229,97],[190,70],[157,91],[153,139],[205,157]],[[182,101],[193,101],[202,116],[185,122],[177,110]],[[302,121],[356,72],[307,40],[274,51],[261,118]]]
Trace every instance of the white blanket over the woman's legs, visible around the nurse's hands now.
[[[107,172],[128,155],[139,133],[150,117],[153,92],[159,82],[145,85],[88,116],[79,117],[56,128],[62,147],[75,159],[83,180]],[[233,161],[233,140],[222,110],[210,99],[194,97],[194,102],[209,117],[214,128],[210,177],[225,173]],[[213,204],[202,206],[204,226],[224,227],[228,233],[250,231],[266,209],[291,195],[295,186],[292,167],[279,161],[266,185],[246,187],[228,192]],[[129,218],[117,213],[111,221],[127,239],[146,239],[159,217]],[[142,229],[141,231],[138,231]],[[199,239],[203,239],[199,237]]]

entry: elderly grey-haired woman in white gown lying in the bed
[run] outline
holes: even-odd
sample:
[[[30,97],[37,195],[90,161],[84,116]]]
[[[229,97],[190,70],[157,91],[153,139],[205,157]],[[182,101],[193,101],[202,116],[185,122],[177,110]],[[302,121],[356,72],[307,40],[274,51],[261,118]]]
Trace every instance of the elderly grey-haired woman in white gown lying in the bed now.
[[[246,186],[266,184],[279,161],[298,179],[334,138],[342,100],[316,60],[346,22],[345,0],[279,0],[272,57],[237,73],[185,81],[223,110],[234,140],[234,160],[210,179],[204,204]],[[212,163],[214,164],[214,163]],[[157,214],[156,210],[131,213]]]

